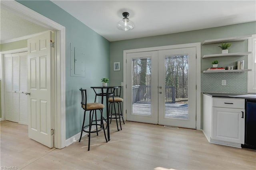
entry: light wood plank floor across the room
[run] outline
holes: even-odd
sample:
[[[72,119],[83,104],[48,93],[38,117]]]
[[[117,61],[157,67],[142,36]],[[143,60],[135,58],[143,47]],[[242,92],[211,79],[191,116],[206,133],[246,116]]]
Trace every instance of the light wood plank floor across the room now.
[[[92,170],[255,170],[256,151],[210,144],[200,130],[125,122],[84,136],[63,149],[50,149],[28,138],[27,126],[1,121],[1,166],[18,169]]]

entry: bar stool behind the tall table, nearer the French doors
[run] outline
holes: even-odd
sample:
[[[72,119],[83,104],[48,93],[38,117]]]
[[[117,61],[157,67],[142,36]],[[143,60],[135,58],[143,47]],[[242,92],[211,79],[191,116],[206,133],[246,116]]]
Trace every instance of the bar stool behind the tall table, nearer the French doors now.
[[[123,117],[122,107],[121,107],[121,103],[124,101],[124,99],[122,99],[120,97],[121,96],[121,90],[122,90],[122,86],[118,86],[118,89],[114,89],[114,91],[111,91],[111,93],[113,93],[113,96],[108,99],[109,108],[111,108],[111,112],[109,114],[110,123],[111,123],[112,119],[116,119],[116,126],[117,126],[118,131],[119,131],[118,123],[117,123],[118,119],[119,119],[121,130],[122,130],[121,118],[122,118],[123,123],[124,123],[124,117]],[[115,104],[117,104],[117,106],[118,106],[118,113],[116,112]],[[113,105],[114,105],[114,113],[113,113]]]

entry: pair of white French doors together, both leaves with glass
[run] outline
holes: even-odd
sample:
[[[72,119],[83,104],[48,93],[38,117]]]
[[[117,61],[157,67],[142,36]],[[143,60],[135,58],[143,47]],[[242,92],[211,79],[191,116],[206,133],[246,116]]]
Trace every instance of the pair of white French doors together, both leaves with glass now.
[[[127,120],[196,128],[196,47],[127,54]]]

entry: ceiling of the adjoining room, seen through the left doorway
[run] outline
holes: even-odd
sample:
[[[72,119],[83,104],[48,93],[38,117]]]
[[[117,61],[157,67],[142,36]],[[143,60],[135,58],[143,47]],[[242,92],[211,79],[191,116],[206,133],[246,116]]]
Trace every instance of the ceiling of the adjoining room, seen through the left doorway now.
[[[17,14],[1,7],[1,29],[0,38],[1,43],[6,43],[8,40],[36,34],[38,32],[44,32],[48,30],[42,26],[38,26],[24,18],[21,18]]]

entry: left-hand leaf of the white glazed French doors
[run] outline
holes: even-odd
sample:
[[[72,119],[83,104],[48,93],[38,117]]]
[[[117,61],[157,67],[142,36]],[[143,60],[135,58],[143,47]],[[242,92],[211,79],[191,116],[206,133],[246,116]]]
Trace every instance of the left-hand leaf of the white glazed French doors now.
[[[158,123],[157,57],[158,51],[127,54],[128,121]]]

